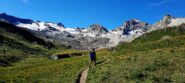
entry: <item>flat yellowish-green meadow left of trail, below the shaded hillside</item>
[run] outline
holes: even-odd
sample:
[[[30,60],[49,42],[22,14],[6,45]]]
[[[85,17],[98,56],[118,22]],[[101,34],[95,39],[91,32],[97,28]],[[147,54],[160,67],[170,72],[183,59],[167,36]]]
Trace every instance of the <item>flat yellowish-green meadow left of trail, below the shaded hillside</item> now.
[[[74,50],[67,53],[75,52]],[[79,51],[76,51],[79,52]],[[84,52],[84,51],[83,51]],[[66,53],[66,52],[64,52]],[[98,63],[105,61],[106,50],[97,52]],[[5,82],[75,82],[78,74],[89,65],[88,55],[59,60],[28,57],[10,67],[0,67],[0,80]]]

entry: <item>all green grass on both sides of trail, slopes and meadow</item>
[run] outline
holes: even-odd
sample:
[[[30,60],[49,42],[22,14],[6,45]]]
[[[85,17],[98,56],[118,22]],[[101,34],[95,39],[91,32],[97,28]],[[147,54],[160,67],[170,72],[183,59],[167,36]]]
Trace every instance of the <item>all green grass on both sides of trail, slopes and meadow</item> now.
[[[113,52],[97,51],[97,66],[89,70],[87,83],[185,82],[185,30],[168,28],[147,33]],[[73,83],[89,65],[88,51],[42,45],[0,29],[0,82]],[[6,53],[3,53],[3,51]],[[53,54],[84,53],[84,56],[50,60]]]

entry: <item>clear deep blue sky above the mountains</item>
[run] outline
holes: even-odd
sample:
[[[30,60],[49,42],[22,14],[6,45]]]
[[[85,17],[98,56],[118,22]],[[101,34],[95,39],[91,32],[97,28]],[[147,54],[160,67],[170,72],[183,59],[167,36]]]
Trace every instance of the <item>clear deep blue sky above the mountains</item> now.
[[[185,0],[0,0],[0,13],[67,27],[101,24],[116,28],[137,18],[150,24],[164,15],[185,17]]]

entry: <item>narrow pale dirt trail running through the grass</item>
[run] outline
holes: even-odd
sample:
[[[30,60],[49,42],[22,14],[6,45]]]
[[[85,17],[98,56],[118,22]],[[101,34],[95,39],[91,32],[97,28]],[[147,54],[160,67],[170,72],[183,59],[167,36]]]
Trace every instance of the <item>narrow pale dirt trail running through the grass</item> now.
[[[105,58],[105,57],[104,57]],[[106,62],[109,62],[108,58],[105,58],[106,61],[104,61],[103,63],[101,63],[101,65],[105,64]],[[88,71],[89,68],[83,70],[78,77],[78,80],[76,81],[76,83],[86,83],[86,79],[87,79],[87,75],[88,75]]]

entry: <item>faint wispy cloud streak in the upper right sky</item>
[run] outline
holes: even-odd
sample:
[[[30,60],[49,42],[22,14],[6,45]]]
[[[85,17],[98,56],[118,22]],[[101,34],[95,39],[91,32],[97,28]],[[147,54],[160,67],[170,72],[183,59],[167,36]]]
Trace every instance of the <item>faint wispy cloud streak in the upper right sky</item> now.
[[[168,0],[162,0],[160,2],[153,2],[147,5],[146,9],[152,9],[154,7],[162,6],[168,3]]]

